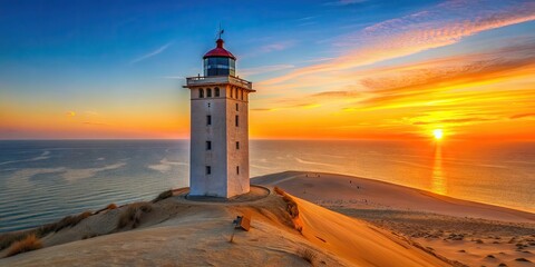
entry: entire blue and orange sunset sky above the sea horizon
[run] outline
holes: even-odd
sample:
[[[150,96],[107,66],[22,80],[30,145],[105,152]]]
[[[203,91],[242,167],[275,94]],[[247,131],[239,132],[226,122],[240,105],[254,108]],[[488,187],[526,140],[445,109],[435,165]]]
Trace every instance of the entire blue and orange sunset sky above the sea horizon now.
[[[253,139],[535,139],[534,1],[1,1],[0,139],[189,137],[223,39]]]

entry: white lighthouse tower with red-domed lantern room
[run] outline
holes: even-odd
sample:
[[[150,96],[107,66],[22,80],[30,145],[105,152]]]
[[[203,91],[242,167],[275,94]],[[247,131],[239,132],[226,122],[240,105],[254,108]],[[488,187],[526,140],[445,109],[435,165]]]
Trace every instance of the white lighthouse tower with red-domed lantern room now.
[[[186,78],[191,90],[189,196],[231,198],[250,190],[250,81],[236,77],[236,58],[217,47],[203,57],[204,76]]]

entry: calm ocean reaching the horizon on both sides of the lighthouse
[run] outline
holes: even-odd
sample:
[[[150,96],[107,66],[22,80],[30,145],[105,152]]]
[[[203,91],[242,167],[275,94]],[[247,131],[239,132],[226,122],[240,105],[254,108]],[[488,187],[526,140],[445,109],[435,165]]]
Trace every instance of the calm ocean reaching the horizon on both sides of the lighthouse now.
[[[0,141],[0,231],[188,185],[188,140]],[[252,140],[251,177],[352,175],[535,212],[535,142]]]

